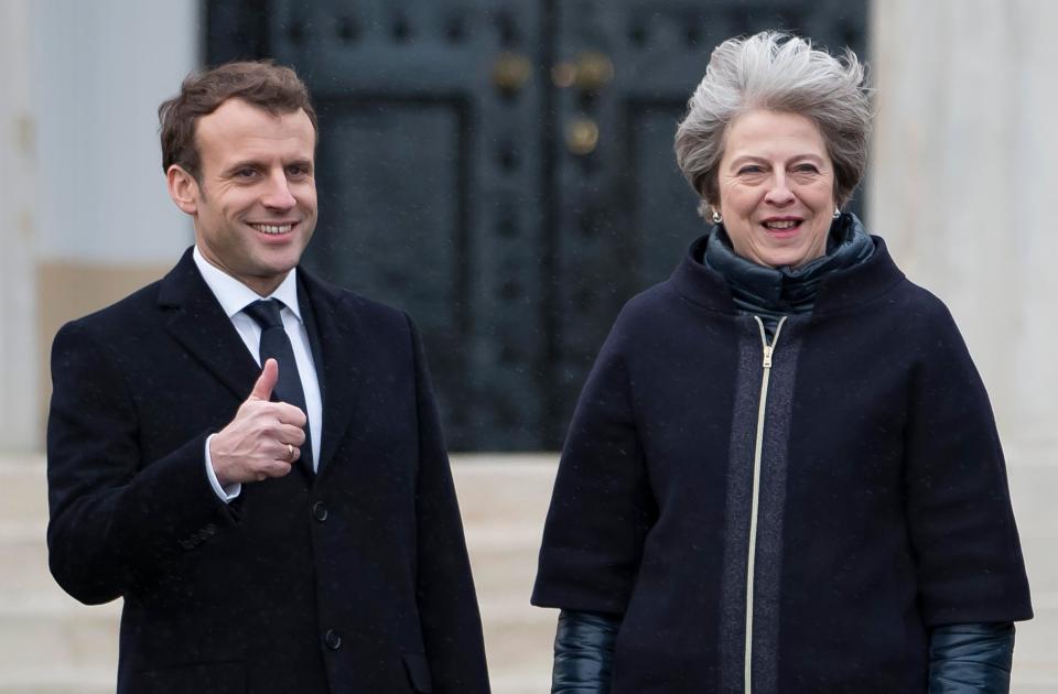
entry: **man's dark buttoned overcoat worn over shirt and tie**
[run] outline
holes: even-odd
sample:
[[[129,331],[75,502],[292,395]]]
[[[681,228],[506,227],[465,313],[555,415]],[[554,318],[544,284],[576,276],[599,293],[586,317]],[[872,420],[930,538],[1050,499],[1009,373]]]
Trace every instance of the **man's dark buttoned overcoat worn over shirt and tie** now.
[[[488,691],[419,337],[299,270],[323,393],[319,475],[206,477],[259,368],[191,257],[52,351],[52,573],[125,598],[119,694]]]

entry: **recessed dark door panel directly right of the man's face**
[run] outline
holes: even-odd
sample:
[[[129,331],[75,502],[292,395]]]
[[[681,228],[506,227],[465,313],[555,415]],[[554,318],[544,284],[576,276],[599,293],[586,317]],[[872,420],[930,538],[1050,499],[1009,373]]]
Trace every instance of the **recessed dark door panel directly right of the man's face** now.
[[[468,186],[458,102],[319,101],[321,218],[306,262],[342,286],[413,306],[435,372],[464,373]],[[355,229],[355,232],[348,232]],[[458,393],[458,391],[456,391]],[[449,402],[452,412],[463,406]],[[464,405],[465,406],[465,405]]]

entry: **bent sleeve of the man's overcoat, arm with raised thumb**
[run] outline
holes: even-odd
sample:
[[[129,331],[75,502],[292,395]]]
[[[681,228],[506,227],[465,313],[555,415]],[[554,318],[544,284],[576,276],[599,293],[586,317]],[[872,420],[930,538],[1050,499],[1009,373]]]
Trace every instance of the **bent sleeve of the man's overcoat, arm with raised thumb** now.
[[[73,597],[112,600],[234,524],[206,477],[208,432],[160,459],[142,459],[127,376],[84,321],[55,337],[52,382],[48,564]]]

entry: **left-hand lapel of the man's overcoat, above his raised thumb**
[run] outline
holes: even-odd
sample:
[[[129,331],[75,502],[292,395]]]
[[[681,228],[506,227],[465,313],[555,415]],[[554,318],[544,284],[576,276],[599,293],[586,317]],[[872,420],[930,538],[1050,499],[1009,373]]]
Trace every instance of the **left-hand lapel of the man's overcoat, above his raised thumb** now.
[[[190,249],[162,279],[158,304],[172,314],[165,327],[173,337],[240,401],[245,400],[257,380],[257,362],[202,279]]]

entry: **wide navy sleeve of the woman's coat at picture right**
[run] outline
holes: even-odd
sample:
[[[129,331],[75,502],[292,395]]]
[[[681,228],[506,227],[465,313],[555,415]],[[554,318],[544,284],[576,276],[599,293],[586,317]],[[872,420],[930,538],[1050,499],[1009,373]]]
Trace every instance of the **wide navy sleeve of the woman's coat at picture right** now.
[[[939,302],[928,323],[905,437],[905,512],[924,621],[1028,619],[1028,582],[987,392]]]

